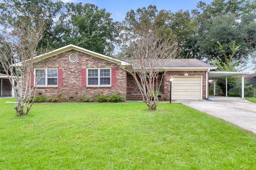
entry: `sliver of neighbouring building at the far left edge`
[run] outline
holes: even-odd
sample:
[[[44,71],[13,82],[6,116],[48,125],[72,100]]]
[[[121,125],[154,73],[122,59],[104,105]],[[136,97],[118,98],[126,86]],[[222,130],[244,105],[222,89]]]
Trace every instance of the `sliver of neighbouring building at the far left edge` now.
[[[12,86],[6,74],[0,73],[0,97],[12,97]]]

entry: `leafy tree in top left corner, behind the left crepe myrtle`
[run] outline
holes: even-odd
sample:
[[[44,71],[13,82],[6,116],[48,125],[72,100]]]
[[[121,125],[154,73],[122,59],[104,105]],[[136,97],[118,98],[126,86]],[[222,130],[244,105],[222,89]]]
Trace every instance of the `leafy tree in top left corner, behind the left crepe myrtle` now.
[[[33,16],[35,19],[44,15],[44,36],[39,41],[37,50],[55,47],[55,43],[59,41],[59,30],[56,25],[58,15],[63,7],[61,1],[52,2],[51,0],[4,0],[0,4],[0,22],[1,24],[9,24],[6,21],[12,21],[12,14],[24,13],[27,16]],[[37,11],[34,9],[38,8]],[[8,19],[8,20],[7,20]]]

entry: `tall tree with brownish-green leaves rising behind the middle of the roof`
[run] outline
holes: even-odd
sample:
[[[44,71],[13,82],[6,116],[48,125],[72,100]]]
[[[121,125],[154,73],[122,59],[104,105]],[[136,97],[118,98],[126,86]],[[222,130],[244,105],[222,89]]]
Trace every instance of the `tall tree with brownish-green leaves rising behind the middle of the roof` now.
[[[158,36],[168,40],[175,40],[169,27],[170,11],[158,11],[155,5],[138,8],[126,13],[122,22],[119,39],[121,41],[121,53],[119,56],[129,55],[127,51],[131,42],[140,35],[146,35],[150,30],[158,33]]]

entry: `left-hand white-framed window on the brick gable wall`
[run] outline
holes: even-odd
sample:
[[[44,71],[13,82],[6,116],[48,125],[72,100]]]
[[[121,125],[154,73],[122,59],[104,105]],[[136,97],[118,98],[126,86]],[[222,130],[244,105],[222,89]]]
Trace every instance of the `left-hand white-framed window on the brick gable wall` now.
[[[35,69],[35,80],[37,86],[57,86],[58,69]]]

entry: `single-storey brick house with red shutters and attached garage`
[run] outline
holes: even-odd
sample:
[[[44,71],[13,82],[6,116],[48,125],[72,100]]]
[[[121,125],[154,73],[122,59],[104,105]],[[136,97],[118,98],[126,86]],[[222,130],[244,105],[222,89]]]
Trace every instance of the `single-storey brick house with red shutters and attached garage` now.
[[[129,65],[82,47],[67,45],[34,58],[34,80],[30,86],[37,83],[37,94],[47,97],[62,94],[68,98],[76,92],[84,92],[89,97],[119,93],[131,99],[141,95],[132,75],[123,69]],[[207,98],[207,72],[212,69],[216,67],[196,59],[166,60],[161,99],[170,97],[171,78],[172,99]]]

